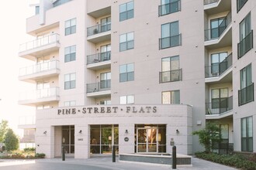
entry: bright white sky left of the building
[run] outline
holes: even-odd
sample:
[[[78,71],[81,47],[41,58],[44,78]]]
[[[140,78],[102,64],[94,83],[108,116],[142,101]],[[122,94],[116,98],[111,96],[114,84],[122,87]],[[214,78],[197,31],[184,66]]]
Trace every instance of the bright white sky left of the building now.
[[[26,34],[26,19],[34,15],[33,0],[2,1],[0,5],[0,121],[18,133],[19,117],[35,114],[34,107],[18,104],[19,93],[32,84],[19,81],[19,69],[31,63],[19,57],[19,45],[32,39]],[[31,89],[31,88],[30,88]]]

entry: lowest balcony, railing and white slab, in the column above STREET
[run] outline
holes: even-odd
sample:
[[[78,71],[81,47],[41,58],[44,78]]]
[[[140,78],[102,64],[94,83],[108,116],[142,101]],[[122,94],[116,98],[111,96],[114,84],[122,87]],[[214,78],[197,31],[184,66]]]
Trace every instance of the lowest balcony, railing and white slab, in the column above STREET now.
[[[102,97],[109,95],[111,88],[111,80],[101,80],[100,83],[86,84],[87,97]]]

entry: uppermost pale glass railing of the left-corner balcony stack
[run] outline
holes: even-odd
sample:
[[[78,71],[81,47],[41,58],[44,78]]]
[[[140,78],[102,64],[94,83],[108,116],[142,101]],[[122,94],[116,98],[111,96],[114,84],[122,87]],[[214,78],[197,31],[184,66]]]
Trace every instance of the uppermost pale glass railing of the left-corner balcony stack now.
[[[51,34],[49,36],[43,36],[40,39],[36,39],[30,42],[21,44],[19,46],[19,52],[26,51],[29,49],[36,49],[40,46],[46,46],[51,43],[59,42],[59,40],[60,40],[60,35],[58,35],[57,33]]]

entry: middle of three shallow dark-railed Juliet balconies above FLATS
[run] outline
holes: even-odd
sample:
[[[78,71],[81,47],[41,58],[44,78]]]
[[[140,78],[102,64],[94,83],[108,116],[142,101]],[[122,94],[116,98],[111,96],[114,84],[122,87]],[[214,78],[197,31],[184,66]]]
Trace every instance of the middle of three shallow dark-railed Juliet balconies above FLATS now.
[[[175,46],[182,46],[182,34],[159,39],[159,49],[167,49]]]

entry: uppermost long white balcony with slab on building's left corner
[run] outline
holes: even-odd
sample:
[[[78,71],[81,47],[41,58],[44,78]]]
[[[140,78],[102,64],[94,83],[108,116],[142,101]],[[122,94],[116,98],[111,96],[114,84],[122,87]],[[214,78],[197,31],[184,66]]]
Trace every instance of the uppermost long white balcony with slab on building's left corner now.
[[[60,48],[60,35],[57,33],[43,36],[19,46],[19,56],[34,60],[36,56],[42,56],[44,53],[50,53]]]

